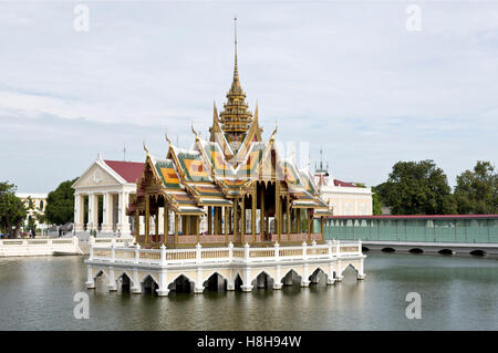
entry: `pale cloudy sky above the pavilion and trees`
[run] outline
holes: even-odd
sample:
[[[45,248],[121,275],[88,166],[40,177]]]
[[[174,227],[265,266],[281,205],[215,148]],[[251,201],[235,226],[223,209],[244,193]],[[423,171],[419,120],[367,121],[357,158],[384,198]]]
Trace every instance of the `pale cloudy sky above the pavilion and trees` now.
[[[143,162],[143,142],[166,154],[165,132],[183,148],[190,125],[207,137],[237,15],[264,139],[278,124],[282,146],[308,146],[311,169],[322,149],[345,181],[374,186],[398,160],[433,159],[454,186],[498,159],[498,1],[417,3],[419,31],[406,1],[2,0],[0,180],[48,193],[98,153]]]

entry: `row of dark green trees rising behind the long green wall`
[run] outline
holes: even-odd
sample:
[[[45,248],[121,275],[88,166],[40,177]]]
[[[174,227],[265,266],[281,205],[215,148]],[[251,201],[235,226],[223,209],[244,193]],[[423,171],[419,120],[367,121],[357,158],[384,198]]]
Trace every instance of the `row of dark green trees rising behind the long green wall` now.
[[[392,215],[498,214],[498,174],[487,160],[459,174],[453,193],[432,159],[396,163],[387,180],[372,190],[374,215],[381,215],[383,206]]]

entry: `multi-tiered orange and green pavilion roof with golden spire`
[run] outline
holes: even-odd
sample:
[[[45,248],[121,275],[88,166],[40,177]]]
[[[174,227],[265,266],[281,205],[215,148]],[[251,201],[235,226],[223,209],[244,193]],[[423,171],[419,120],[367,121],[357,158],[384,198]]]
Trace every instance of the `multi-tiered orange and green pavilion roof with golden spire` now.
[[[261,138],[258,105],[252,114],[240,85],[237,39],[234,79],[224,111],[218,115],[215,104],[209,141],[200,138],[194,127],[193,132],[193,149],[179,148],[166,136],[166,158],[147,152],[148,170],[176,212],[199,215],[204,206],[230,206],[235,198],[251,193],[253,183],[274,180],[283,181],[283,193],[290,194],[293,208],[328,209],[308,167],[299,169],[292,158],[280,156],[274,145],[277,127],[269,141]],[[149,181],[145,172],[138,189],[145,189]],[[141,193],[137,196],[135,204],[139,204]]]

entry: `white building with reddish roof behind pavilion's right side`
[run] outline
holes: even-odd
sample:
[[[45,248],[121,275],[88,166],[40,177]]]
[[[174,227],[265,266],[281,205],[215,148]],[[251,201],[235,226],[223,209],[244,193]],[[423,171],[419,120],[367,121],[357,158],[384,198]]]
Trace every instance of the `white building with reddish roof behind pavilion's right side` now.
[[[329,203],[334,216],[372,216],[372,189],[334,179],[320,168],[314,173],[314,183],[321,197]]]

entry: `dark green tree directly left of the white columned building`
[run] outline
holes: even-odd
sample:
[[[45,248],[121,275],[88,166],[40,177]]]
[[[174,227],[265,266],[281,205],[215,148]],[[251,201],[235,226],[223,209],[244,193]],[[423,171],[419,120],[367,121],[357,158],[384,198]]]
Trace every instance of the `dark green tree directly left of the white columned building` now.
[[[74,219],[74,189],[71,187],[77,178],[61,183],[58,188],[49,193],[46,198],[45,217],[50,224],[64,225]]]

